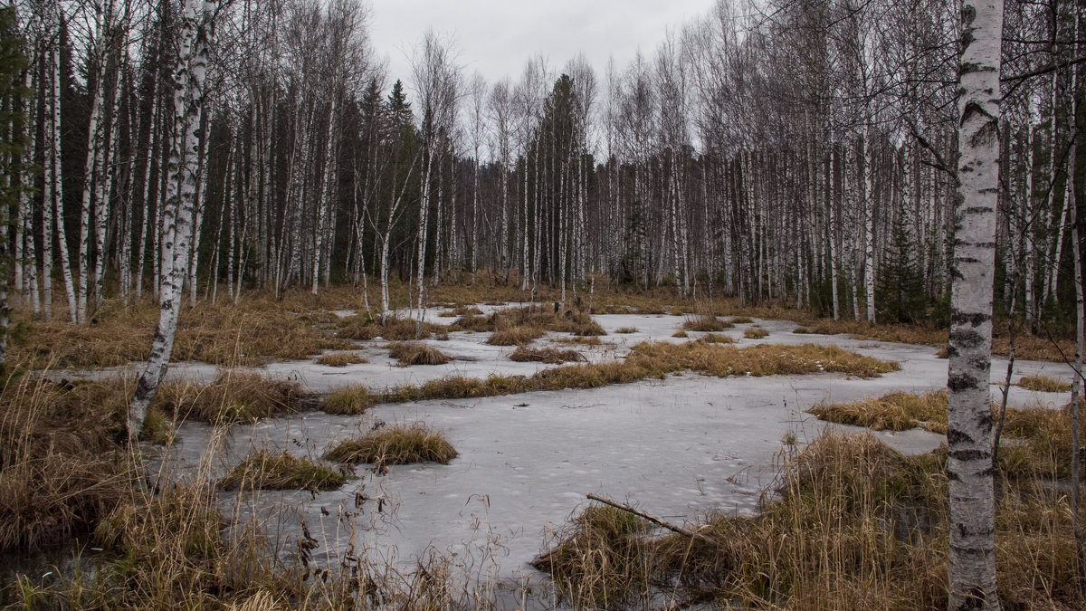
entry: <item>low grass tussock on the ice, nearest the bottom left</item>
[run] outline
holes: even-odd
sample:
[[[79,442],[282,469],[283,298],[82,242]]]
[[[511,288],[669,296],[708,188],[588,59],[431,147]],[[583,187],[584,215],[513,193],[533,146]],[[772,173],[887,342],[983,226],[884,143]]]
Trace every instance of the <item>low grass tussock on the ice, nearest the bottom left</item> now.
[[[287,452],[258,451],[233,467],[219,481],[224,490],[333,490],[348,482],[348,475],[334,467]]]

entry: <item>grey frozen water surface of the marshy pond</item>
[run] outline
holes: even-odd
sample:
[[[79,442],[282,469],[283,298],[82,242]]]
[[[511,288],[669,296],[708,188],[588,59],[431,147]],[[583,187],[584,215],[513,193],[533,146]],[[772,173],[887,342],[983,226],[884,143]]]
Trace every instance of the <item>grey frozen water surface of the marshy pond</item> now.
[[[431,311],[428,317],[446,324],[454,320],[435,314]],[[604,345],[573,346],[594,361],[621,358],[644,340],[683,341],[671,337],[682,325],[681,316],[616,314],[596,320],[608,332],[601,338]],[[378,406],[363,416],[308,412],[236,426],[213,460],[213,473],[224,474],[254,448],[317,458],[375,422],[424,421],[444,432],[459,451],[451,464],[392,466],[381,475],[362,465],[355,470],[358,478],[340,490],[230,494],[223,502],[257,518],[276,515],[274,531],[288,535],[298,533],[304,521],[320,544],[314,552],[317,558],[340,556],[353,543],[356,550],[366,548],[381,558],[409,562],[432,547],[454,553],[466,570],[488,577],[538,582],[542,577],[527,563],[571,513],[585,506],[585,494],[631,502],[680,523],[709,511],[749,514],[776,473],[782,440],[794,438],[801,446],[825,426],[804,410],[821,401],[926,391],[946,384],[947,361],[937,359],[933,347],[797,335],[792,333],[797,325],[787,321],[752,324],[769,331],[769,336],[743,338],[750,324],[723,334],[740,346],[833,344],[899,361],[901,371],[873,379],[838,374],[717,378],[687,372],[590,390]],[[615,334],[620,327],[637,332]],[[547,366],[509,361],[513,348],[485,345],[488,335],[453,333],[447,341],[429,340],[456,359],[446,365],[396,366],[381,348],[386,342],[374,340],[358,342],[358,350],[370,360],[366,364],[329,367],[288,362],[270,364],[264,372],[326,391],[359,383],[415,384],[451,374],[531,375]],[[690,333],[692,338],[700,335]],[[557,338],[548,334],[539,344]],[[1071,369],[1063,364],[1019,361],[1015,370],[1014,379],[1035,373],[1071,379]],[[175,379],[210,379],[216,372],[202,364],[171,367]],[[996,359],[993,381],[1005,374],[1006,361]],[[1062,396],[1013,387],[1010,400],[1012,406],[1036,400],[1055,406]],[[205,456],[212,433],[205,424],[184,424],[178,441],[167,451],[167,462],[180,473],[191,471]],[[944,439],[922,431],[877,435],[907,453],[930,451]]]

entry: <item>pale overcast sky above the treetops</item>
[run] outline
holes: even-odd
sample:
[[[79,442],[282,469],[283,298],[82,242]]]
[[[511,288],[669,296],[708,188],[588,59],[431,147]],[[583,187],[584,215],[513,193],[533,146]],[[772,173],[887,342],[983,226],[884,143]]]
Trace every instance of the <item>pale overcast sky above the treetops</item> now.
[[[622,67],[640,47],[652,54],[668,27],[706,14],[715,0],[372,0],[370,37],[389,60],[389,79],[411,80],[407,58],[428,27],[452,37],[457,63],[488,83],[519,78],[542,53],[559,71],[578,52],[599,77],[614,55]]]

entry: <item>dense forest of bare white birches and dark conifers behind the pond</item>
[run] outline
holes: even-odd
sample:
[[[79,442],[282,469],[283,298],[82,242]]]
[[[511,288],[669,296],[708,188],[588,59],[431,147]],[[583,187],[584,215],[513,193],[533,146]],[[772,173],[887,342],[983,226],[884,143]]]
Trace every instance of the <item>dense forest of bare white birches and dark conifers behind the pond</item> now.
[[[29,93],[9,102],[28,121],[7,247],[14,294],[47,320],[59,300],[84,323],[157,295],[174,241],[192,304],[368,282],[421,303],[485,271],[570,299],[598,282],[947,315],[954,2],[722,1],[629,65],[534,58],[497,83],[433,33],[412,74],[387,74],[361,0],[205,2],[194,40],[176,2],[15,9]],[[1081,10],[1005,13],[996,291],[1036,326],[1073,301]],[[197,170],[178,179],[175,109],[193,99]]]

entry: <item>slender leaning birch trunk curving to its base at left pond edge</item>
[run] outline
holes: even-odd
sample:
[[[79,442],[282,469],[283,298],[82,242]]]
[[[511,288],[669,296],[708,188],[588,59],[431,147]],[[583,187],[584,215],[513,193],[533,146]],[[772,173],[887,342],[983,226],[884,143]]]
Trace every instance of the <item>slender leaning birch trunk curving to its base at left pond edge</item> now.
[[[151,358],[136,386],[128,411],[128,438],[131,441],[143,429],[147,408],[166,375],[174,349],[185,267],[192,246],[192,214],[199,182],[198,132],[207,71],[206,17],[213,8],[212,2],[186,0],[180,18],[179,53],[174,77],[174,146],[169,153],[169,180],[163,211],[166,237],[163,238],[162,249],[159,326],[151,344]]]

